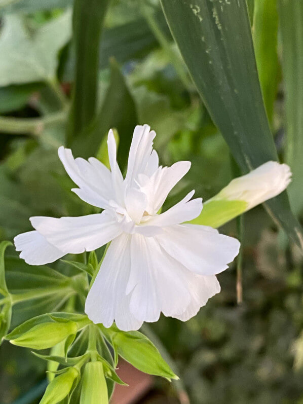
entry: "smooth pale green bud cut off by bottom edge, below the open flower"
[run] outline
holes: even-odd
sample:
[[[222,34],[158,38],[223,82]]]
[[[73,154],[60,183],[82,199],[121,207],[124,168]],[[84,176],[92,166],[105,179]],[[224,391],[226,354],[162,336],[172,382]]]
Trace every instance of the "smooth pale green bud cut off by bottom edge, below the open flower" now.
[[[99,361],[88,362],[84,368],[80,404],[107,404],[107,386],[103,364]]]

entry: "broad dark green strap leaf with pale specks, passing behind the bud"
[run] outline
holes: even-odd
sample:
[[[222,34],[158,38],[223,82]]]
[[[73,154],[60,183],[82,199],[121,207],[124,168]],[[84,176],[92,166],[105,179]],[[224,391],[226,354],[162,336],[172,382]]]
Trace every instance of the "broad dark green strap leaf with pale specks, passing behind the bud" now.
[[[171,32],[208,111],[244,172],[277,152],[264,109],[245,0],[161,0]],[[287,194],[267,208],[300,247]]]

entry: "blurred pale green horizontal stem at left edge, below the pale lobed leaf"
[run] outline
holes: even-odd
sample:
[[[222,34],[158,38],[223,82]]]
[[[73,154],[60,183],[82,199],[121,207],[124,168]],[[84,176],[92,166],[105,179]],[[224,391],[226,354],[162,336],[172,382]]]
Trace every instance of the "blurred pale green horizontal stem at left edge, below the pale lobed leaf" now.
[[[12,118],[0,117],[0,132],[15,135],[39,136],[48,125],[64,122],[67,117],[65,111],[46,115],[41,118]]]

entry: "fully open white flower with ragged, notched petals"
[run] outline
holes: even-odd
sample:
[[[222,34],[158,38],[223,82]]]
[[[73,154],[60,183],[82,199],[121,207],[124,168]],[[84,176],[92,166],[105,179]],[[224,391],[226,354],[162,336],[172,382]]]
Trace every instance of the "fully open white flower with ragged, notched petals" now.
[[[202,199],[194,191],[166,212],[157,212],[168,193],[191,164],[181,161],[159,167],[153,150],[154,131],[136,126],[127,174],[116,159],[116,142],[109,131],[111,171],[100,161],[73,159],[59,148],[59,157],[73,189],[85,202],[104,209],[82,217],[31,217],[35,231],[15,238],[28,264],[53,262],[67,253],[91,251],[111,241],[85,306],[89,318],[122,330],[157,321],[160,313],[188,320],[220,291],[216,274],[238,254],[238,240],[210,227],[183,224],[197,217]]]

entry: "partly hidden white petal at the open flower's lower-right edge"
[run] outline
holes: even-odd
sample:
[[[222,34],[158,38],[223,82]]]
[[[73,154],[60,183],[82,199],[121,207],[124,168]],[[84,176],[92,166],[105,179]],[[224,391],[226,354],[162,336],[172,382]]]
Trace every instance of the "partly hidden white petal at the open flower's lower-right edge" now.
[[[203,276],[188,272],[187,282],[191,290],[191,303],[182,314],[172,315],[181,321],[194,317],[200,308],[206,305],[208,299],[220,291],[220,284],[215,275]]]

